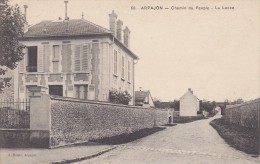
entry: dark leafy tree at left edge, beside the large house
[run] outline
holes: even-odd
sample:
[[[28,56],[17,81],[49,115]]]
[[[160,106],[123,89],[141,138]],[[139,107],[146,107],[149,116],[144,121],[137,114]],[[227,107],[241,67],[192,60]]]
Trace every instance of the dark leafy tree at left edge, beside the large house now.
[[[8,69],[17,67],[25,47],[19,43],[19,37],[24,34],[25,18],[19,6],[9,6],[8,1],[0,0],[0,91],[10,86],[11,79],[3,75]]]

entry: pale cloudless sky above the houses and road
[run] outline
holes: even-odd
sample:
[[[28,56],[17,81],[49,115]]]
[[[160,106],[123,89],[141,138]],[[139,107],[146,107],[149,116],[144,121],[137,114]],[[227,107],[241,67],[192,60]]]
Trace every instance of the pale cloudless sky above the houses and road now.
[[[65,15],[63,0],[9,1],[21,7],[28,5],[30,25]],[[131,10],[132,6],[135,10]],[[141,9],[148,6],[164,9]],[[194,9],[172,10],[173,7]],[[179,99],[188,88],[201,100],[259,98],[259,0],[69,0],[68,3],[70,19],[81,18],[83,12],[85,19],[107,29],[112,10],[123,26],[129,27],[130,49],[140,58],[135,65],[135,90],[139,87],[150,90],[153,98],[162,101]]]

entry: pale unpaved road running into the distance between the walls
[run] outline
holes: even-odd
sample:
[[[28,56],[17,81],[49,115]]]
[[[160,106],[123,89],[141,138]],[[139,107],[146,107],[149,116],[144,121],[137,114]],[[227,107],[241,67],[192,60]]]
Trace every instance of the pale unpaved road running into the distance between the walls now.
[[[260,163],[259,158],[226,144],[209,125],[213,119],[167,127],[166,130],[120,145],[108,153],[80,163]]]

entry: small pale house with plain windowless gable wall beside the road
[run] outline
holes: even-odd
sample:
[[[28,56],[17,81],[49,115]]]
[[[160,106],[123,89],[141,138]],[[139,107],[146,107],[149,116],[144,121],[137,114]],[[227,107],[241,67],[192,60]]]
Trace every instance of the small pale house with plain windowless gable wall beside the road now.
[[[188,91],[180,98],[180,116],[197,116],[200,110],[200,101],[193,95],[193,91]]]

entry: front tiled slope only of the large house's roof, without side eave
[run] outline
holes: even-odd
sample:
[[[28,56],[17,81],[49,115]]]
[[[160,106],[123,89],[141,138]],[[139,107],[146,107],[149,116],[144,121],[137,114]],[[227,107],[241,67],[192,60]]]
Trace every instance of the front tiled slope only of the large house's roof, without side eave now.
[[[24,37],[70,36],[105,33],[110,33],[110,31],[85,19],[73,19],[69,21],[42,21],[31,26],[24,34]]]

